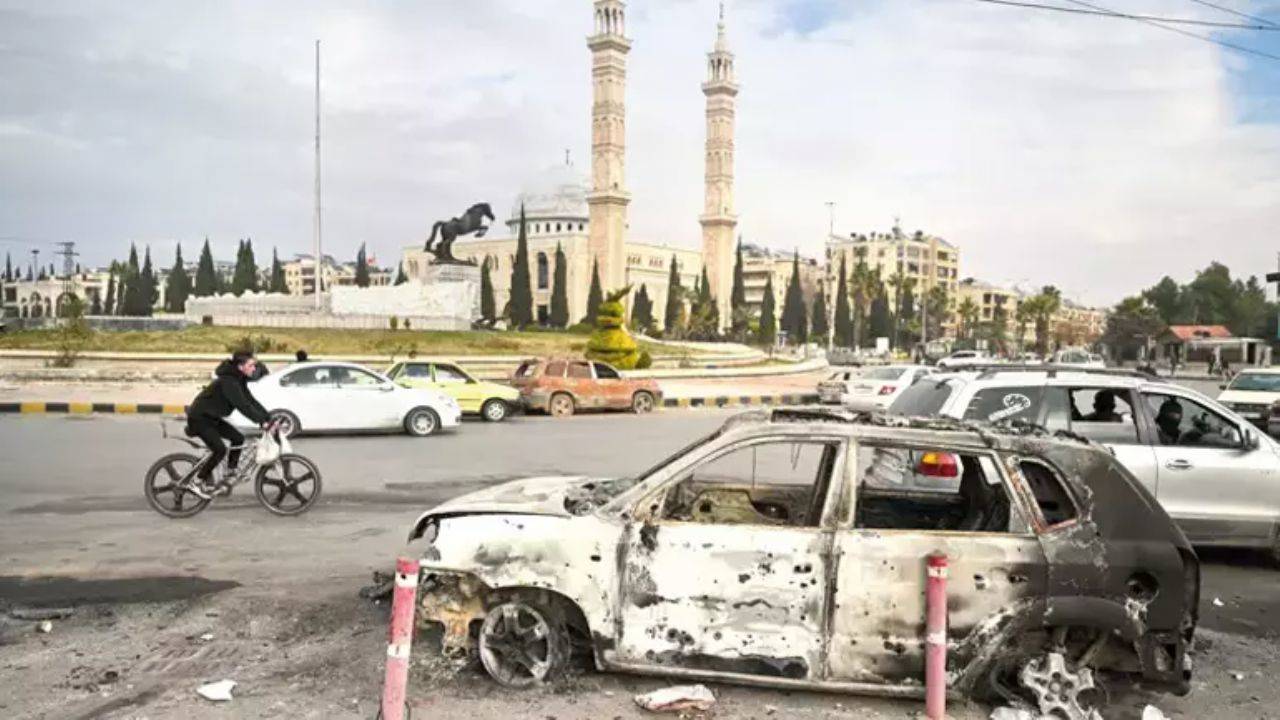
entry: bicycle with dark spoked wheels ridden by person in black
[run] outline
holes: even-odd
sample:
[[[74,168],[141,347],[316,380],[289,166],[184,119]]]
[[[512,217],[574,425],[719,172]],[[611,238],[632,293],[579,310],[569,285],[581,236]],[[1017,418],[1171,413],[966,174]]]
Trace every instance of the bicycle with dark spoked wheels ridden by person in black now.
[[[268,425],[261,437],[278,433],[276,425],[276,423]],[[165,439],[182,441],[200,452],[200,455],[170,452],[156,460],[147,470],[142,492],[151,507],[165,518],[191,518],[214,500],[230,496],[236,486],[248,482],[250,478],[253,478],[253,495],[257,501],[275,515],[301,515],[320,498],[320,469],[316,464],[296,452],[287,452],[261,465],[257,461],[257,445],[261,437],[244,443],[239,468],[232,471],[229,478],[227,464],[219,462],[212,478],[220,480],[219,487],[224,492],[202,497],[192,489],[192,486],[200,482],[196,470],[209,459],[209,448],[184,434],[169,434],[165,423],[160,423],[160,433]],[[274,492],[269,493],[269,488]],[[268,497],[269,495],[274,497]]]

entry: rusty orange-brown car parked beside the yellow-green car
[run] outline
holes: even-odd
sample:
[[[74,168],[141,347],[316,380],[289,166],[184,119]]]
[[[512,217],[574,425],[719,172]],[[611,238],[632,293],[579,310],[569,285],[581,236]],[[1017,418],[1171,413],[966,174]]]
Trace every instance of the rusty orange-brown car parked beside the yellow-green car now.
[[[625,378],[608,363],[573,357],[526,360],[511,378],[529,410],[566,416],[579,410],[650,413],[662,388],[650,378]]]

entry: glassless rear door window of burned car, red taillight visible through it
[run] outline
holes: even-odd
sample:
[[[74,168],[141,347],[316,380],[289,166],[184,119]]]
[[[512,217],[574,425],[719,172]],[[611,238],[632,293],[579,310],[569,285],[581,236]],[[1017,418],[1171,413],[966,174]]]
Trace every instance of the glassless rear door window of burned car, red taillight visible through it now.
[[[1025,530],[995,466],[977,455],[861,446],[856,477],[859,529]]]

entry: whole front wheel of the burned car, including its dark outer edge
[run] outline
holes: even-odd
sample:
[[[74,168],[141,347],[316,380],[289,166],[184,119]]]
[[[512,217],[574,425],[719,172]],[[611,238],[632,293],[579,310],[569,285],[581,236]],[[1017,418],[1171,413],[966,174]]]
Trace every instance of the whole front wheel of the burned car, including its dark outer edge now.
[[[508,688],[554,680],[564,674],[573,656],[562,614],[526,597],[492,607],[476,644],[485,671]]]

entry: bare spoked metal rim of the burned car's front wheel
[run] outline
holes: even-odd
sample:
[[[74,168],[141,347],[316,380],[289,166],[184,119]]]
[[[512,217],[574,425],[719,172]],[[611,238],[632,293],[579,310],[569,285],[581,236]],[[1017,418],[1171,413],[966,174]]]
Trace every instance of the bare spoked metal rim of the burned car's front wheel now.
[[[538,610],[511,602],[493,609],[480,629],[480,660],[506,685],[531,685],[552,669],[552,628]]]

